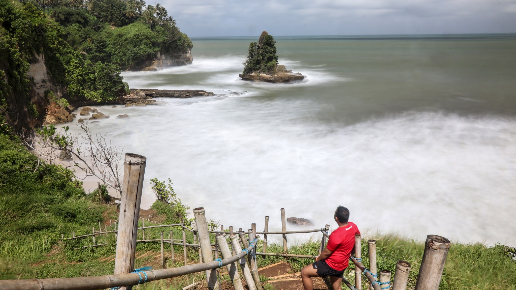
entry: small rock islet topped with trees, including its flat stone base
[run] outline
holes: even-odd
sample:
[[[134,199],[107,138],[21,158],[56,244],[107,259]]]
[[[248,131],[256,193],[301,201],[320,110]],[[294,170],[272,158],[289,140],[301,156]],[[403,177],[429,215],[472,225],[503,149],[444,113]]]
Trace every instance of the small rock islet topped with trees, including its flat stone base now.
[[[258,42],[251,42],[249,54],[244,62],[244,71],[238,75],[244,80],[282,83],[303,79],[301,73],[293,73],[284,65],[278,65],[276,41],[267,31],[263,31]]]

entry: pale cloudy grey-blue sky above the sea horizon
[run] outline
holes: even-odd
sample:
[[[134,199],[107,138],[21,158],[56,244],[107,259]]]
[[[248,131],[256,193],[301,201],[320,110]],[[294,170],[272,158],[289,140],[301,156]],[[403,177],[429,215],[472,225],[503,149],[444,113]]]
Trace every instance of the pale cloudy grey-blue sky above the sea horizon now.
[[[147,4],[154,4],[148,0]],[[516,0],[158,0],[196,36],[514,33]]]

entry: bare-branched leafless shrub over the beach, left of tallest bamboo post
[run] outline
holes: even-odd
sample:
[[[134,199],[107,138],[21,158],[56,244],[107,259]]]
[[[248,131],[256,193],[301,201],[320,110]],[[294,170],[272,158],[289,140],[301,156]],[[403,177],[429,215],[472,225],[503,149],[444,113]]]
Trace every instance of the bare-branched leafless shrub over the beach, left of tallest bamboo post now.
[[[120,175],[124,148],[116,146],[106,134],[91,133],[86,122],[80,128],[81,133],[73,134],[69,132],[68,126],[59,132],[54,125],[49,125],[37,129],[34,134],[25,134],[23,144],[35,154],[38,161],[34,171],[43,163],[55,164],[55,160],[60,158],[70,162],[65,167],[77,167],[86,177],[95,176],[108,188],[118,191],[121,197]]]

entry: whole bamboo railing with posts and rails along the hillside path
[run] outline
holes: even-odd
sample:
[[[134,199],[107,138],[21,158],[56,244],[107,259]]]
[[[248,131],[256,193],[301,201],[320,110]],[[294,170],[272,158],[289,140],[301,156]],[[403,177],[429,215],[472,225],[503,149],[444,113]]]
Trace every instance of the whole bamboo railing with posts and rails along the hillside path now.
[[[220,286],[216,278],[216,271],[212,270],[223,266],[227,266],[235,290],[243,290],[244,288],[241,283],[241,278],[237,271],[237,267],[239,266],[242,275],[244,276],[244,279],[247,282],[249,290],[262,290],[262,284],[260,282],[260,277],[257,269],[256,255],[263,255],[264,257],[284,256],[306,259],[315,259],[317,257],[315,255],[288,254],[288,234],[321,232],[322,236],[319,254],[325,248],[326,238],[329,238],[328,230],[330,226],[328,224],[321,229],[287,231],[284,208],[281,208],[281,231],[268,231],[268,216],[265,217],[265,225],[263,232],[256,231],[255,223],[251,224],[251,229],[249,229],[247,232],[244,232],[241,228],[237,232],[234,232],[233,227],[230,227],[229,231],[224,231],[223,226],[221,226],[220,231],[208,230],[203,207],[198,207],[193,210],[193,214],[196,220],[195,224],[193,224],[193,229],[186,227],[184,221],[182,223],[158,224],[144,227],[145,220],[152,222],[149,218],[142,218],[143,227],[138,227],[138,220],[140,218],[139,207],[141,202],[141,191],[143,186],[143,173],[145,170],[146,160],[146,157],[137,154],[126,154],[125,156],[123,185],[125,191],[124,198],[122,199],[120,204],[120,217],[118,220],[109,225],[109,227],[115,225],[115,230],[107,231],[107,227],[105,227],[104,232],[102,232],[101,224],[99,223],[99,232],[95,232],[95,229],[93,228],[91,234],[75,236],[75,232],[73,232],[71,234],[72,237],[69,238],[65,238],[63,234],[61,235],[61,238],[63,240],[92,236],[94,245],[81,247],[82,249],[85,249],[88,247],[98,247],[106,245],[106,243],[95,244],[95,236],[114,233],[117,239],[114,275],[76,278],[0,280],[0,289],[93,290],[118,287],[119,290],[127,290],[130,289],[131,286],[136,284],[179,277],[187,275],[189,273],[206,271],[208,289],[220,290]],[[167,227],[181,227],[183,234],[182,239],[173,239],[172,230],[170,230],[169,239],[164,239],[163,231],[160,232],[159,239],[145,238],[145,229]],[[143,239],[137,239],[138,230],[142,231]],[[193,234],[194,244],[188,244],[186,242],[186,231],[189,231]],[[214,244],[212,244],[210,241],[210,233],[217,234],[216,243]],[[259,236],[257,236],[257,234],[263,235],[263,252],[256,251],[257,240],[259,239]],[[282,235],[283,253],[267,252],[268,235],[273,234]],[[230,241],[228,241],[226,235],[229,235]],[[157,270],[135,272],[136,270],[134,271],[133,269],[136,253],[136,243],[147,241],[160,242],[162,254],[162,267],[165,266],[164,244],[171,245],[170,259],[172,260],[172,262],[175,259],[173,245],[183,246],[185,265],[175,268],[164,268]],[[243,247],[241,247],[241,245],[243,245]],[[214,246],[215,248],[213,248]],[[376,240],[368,240],[367,246],[369,250],[368,252],[370,269],[367,269],[361,263],[361,236],[360,234],[357,234],[355,236],[354,256],[351,257],[351,262],[355,265],[355,285],[351,285],[351,283],[345,279],[343,280],[343,282],[352,290],[361,290],[362,275],[364,275],[367,278],[369,282],[369,287],[371,289],[382,290],[390,288],[391,271],[380,270],[379,272],[377,272]],[[199,263],[193,265],[187,264],[187,247],[193,247],[199,251]],[[420,267],[419,275],[417,277],[415,290],[438,290],[439,282],[441,281],[441,275],[444,268],[444,262],[446,260],[446,255],[448,253],[449,247],[450,241],[448,239],[436,235],[427,236],[425,251],[423,254],[423,261]],[[244,250],[241,250],[242,248],[244,248]],[[215,261],[213,258],[213,252],[215,252],[216,256]],[[220,259],[217,259],[219,252],[222,257]],[[392,287],[393,290],[406,290],[410,268],[411,265],[408,262],[398,261],[398,263],[396,264],[395,278]],[[194,282],[193,284],[184,287],[183,290],[192,288],[198,283],[199,281]]]

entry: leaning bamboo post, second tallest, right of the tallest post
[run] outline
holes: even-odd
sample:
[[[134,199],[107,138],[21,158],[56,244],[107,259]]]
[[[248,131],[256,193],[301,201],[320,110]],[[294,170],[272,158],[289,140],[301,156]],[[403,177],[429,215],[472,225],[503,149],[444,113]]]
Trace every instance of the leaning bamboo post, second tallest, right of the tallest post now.
[[[193,209],[193,216],[197,224],[197,233],[199,234],[199,245],[201,246],[202,261],[204,263],[213,261],[212,246],[209,241],[208,224],[204,213],[204,207]],[[216,271],[206,270],[206,280],[208,281],[209,290],[219,290]]]

